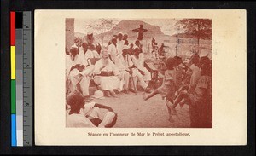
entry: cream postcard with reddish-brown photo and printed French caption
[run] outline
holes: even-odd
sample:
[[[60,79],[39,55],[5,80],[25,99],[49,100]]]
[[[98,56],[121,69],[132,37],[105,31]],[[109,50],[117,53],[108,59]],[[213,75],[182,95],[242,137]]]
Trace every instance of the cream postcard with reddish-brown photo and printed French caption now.
[[[35,144],[247,144],[246,15],[36,10]]]

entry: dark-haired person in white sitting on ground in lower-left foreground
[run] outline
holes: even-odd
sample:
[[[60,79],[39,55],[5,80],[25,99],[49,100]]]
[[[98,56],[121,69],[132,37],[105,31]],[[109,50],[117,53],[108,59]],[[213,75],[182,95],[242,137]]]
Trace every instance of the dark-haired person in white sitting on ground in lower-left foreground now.
[[[82,96],[79,92],[67,96],[67,127],[113,127],[117,114],[113,109],[93,102],[90,96]],[[106,109],[103,111],[103,109]]]

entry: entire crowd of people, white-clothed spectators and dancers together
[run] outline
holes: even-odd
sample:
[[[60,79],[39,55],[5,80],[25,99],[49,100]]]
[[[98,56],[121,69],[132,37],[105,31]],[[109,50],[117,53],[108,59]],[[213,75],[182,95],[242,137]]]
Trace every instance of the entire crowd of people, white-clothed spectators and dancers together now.
[[[144,66],[143,38],[138,36],[135,43],[129,43],[128,38],[126,33],[119,32],[113,35],[107,47],[102,47],[95,43],[93,33],[88,32],[82,41],[74,41],[66,55],[66,95],[70,108],[67,127],[111,127],[115,124],[117,115],[111,107],[93,102],[88,104],[91,81],[107,97],[119,98],[120,92],[130,94],[137,92],[138,87],[142,89],[145,101],[160,94],[166,99],[170,122],[174,122],[172,117],[177,115],[177,105],[188,104],[191,127],[211,127],[212,61],[197,54],[192,56],[189,64],[183,63],[178,56],[166,58],[166,66],[161,69],[164,71],[162,84],[153,90],[148,85],[151,73]],[[88,118],[88,113],[101,114],[99,108],[108,109],[108,113],[101,118],[97,115]]]

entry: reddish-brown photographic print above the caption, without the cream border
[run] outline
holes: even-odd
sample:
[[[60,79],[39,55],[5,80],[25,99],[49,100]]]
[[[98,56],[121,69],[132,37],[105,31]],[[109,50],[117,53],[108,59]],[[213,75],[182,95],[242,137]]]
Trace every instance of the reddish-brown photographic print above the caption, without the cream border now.
[[[211,19],[64,24],[67,128],[212,128]]]

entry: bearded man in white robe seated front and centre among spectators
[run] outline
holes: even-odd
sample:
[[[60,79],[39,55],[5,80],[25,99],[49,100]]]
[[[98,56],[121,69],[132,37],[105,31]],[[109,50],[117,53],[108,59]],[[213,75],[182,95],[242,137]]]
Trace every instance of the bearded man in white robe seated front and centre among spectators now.
[[[94,73],[96,75],[94,82],[105,92],[105,95],[117,97],[113,90],[119,89],[121,75],[119,68],[108,58],[106,49],[102,51],[102,58],[96,61]]]

